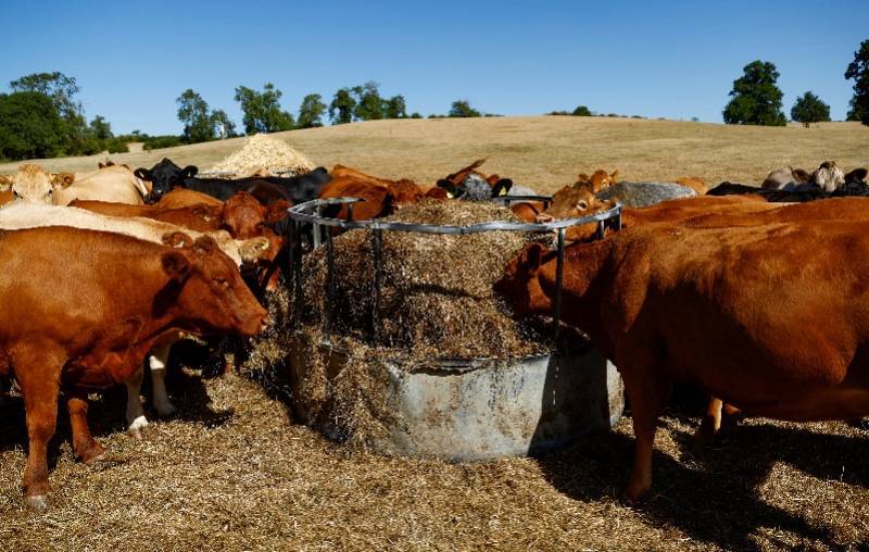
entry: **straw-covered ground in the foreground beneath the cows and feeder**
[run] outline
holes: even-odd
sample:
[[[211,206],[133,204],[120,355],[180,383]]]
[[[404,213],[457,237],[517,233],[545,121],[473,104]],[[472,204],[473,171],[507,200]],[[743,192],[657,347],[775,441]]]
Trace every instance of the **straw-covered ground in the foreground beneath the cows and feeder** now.
[[[629,418],[536,460],[386,459],[294,425],[256,379],[176,373],[179,415],[141,441],[123,431],[123,397],[96,401],[90,417],[110,462],[74,462],[62,423],[43,515],[21,500],[26,438],[13,397],[0,410],[0,549],[841,550],[869,541],[869,439],[844,424],[746,421],[693,454],[696,419],[670,412],[654,493],[629,506],[617,499],[630,468]]]

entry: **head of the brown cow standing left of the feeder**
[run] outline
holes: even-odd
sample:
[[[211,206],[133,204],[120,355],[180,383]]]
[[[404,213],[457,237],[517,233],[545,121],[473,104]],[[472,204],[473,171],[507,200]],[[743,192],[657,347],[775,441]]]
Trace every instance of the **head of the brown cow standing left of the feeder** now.
[[[257,334],[265,326],[267,313],[232,261],[211,238],[185,237],[164,238],[172,249],[162,255],[163,271],[169,278],[167,289],[176,298],[177,317],[201,335]]]

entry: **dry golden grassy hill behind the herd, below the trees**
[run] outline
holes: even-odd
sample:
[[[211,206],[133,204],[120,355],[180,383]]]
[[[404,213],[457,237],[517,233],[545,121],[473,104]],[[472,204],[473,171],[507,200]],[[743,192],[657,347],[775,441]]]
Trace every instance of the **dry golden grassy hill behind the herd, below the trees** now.
[[[509,176],[541,192],[576,180],[580,172],[619,168],[628,180],[672,180],[697,175],[709,183],[759,183],[773,168],[814,168],[835,160],[852,168],[869,165],[869,127],[826,123],[811,128],[728,126],[620,117],[492,117],[371,121],[291,130],[288,140],[314,162],[336,163],[386,177],[433,184],[475,159],[484,172]],[[245,138],[166,148],[110,158],[151,166],[164,156],[204,171]],[[50,171],[89,171],[98,155],[38,161]],[[18,163],[0,165],[10,173]]]

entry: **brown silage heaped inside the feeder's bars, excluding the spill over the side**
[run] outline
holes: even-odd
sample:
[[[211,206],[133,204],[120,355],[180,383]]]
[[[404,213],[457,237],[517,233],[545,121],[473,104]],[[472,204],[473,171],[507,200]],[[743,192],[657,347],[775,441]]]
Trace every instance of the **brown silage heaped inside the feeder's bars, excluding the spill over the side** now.
[[[489,202],[424,201],[385,221],[468,226],[520,222]],[[363,341],[410,364],[434,359],[521,357],[542,353],[541,337],[513,318],[492,289],[504,267],[533,236],[518,231],[436,235],[382,234],[379,341],[373,343],[373,241],[370,230],[333,239],[335,298],[331,333]],[[304,326],[326,316],[326,248],[304,262]]]

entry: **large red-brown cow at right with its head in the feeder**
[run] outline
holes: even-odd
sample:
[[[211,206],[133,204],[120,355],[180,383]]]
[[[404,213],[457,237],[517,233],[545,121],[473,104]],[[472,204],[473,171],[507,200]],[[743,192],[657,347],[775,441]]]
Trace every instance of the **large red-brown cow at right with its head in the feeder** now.
[[[555,258],[534,243],[507,266],[496,288],[518,315],[552,311]],[[565,322],[614,361],[631,401],[637,450],[626,497],[652,484],[655,426],[672,381],[773,418],[869,414],[866,281],[869,223],[653,224],[568,248]],[[810,338],[807,328],[816,328]]]

